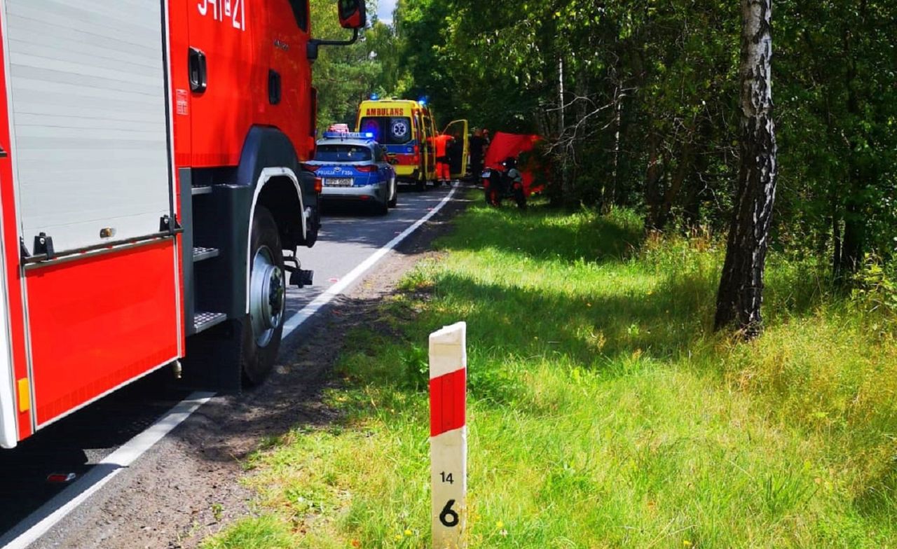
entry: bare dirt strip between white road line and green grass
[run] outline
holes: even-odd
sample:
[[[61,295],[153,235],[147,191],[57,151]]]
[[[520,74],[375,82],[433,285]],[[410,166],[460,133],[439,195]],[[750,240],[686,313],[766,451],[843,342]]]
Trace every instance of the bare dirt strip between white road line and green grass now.
[[[351,343],[345,335],[370,325],[379,302],[435,254],[432,240],[466,205],[459,189],[351,292],[284,342],[280,363],[263,387],[214,398],[32,547],[188,549],[252,513],[253,493],[239,483],[242,460],[293,427],[335,420],[321,394],[334,383],[330,372]]]

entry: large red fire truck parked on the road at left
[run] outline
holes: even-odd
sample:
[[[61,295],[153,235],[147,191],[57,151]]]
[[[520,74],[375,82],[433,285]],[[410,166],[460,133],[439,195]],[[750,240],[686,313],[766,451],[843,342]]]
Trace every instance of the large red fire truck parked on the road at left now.
[[[363,0],[338,0],[344,28]],[[0,0],[0,446],[271,369],[318,236],[308,0]]]

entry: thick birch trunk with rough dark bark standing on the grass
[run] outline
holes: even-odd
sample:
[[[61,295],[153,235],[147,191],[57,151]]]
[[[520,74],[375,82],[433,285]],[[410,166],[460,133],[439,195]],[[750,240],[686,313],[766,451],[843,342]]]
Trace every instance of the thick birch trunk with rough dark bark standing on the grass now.
[[[763,269],[778,169],[772,118],[772,0],[742,0],[741,6],[741,166],[716,328],[736,327],[751,338],[762,331]]]

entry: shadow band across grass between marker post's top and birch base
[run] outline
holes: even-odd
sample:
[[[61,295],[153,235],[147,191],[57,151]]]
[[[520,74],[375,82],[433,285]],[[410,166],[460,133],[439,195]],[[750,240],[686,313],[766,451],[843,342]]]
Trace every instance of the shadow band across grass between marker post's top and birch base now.
[[[643,353],[658,359],[687,352],[706,335],[707,281],[697,275],[661,284],[651,295],[570,299],[557,292],[439,277],[441,297],[465,315],[475,344],[501,355],[564,355],[600,367]],[[448,320],[448,318],[447,318]]]

